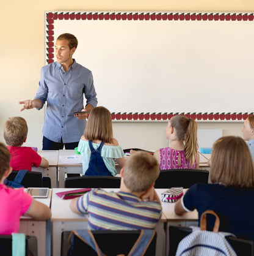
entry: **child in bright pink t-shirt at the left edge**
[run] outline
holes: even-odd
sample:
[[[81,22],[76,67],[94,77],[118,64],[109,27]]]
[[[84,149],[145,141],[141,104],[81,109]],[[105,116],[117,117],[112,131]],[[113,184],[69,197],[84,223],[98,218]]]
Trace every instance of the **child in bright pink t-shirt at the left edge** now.
[[[0,235],[18,233],[20,216],[30,216],[35,220],[47,220],[51,210],[43,203],[34,200],[24,189],[12,189],[4,185],[4,179],[12,171],[10,152],[0,143]]]

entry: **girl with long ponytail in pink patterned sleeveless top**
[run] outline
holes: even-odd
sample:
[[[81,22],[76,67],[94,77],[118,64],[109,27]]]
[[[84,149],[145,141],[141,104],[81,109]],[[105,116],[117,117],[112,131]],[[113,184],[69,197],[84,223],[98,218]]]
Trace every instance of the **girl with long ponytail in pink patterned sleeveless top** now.
[[[183,115],[173,116],[165,130],[170,147],[154,152],[161,170],[198,169],[197,122]]]

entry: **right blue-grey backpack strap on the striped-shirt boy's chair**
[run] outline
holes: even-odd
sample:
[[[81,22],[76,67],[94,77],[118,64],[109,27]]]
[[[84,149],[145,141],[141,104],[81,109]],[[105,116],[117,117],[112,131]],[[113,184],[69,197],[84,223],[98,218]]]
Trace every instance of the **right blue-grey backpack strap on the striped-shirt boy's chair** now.
[[[136,243],[132,246],[128,256],[142,256],[147,251],[148,247],[153,241],[155,235],[154,230],[142,229],[140,230],[139,238],[137,238]]]

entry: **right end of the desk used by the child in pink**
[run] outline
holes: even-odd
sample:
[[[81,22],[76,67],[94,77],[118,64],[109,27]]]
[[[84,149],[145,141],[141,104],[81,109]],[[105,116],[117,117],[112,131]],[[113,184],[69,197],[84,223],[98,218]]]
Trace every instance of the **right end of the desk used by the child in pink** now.
[[[44,203],[46,206],[51,205],[52,189],[49,189],[48,198],[36,198],[35,200]],[[38,256],[50,256],[50,238],[51,238],[51,227],[50,220],[32,220],[31,217],[21,216],[20,217],[20,229],[18,233],[24,233],[25,235],[37,237],[37,248]],[[60,254],[59,254],[60,255]]]

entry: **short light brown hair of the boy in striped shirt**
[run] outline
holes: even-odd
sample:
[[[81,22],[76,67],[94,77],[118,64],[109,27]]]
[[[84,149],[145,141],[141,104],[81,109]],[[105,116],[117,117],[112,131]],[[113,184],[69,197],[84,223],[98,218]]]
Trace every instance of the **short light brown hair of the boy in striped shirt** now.
[[[159,163],[148,152],[137,151],[126,161],[123,182],[131,192],[149,189],[159,176]]]

